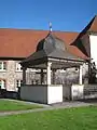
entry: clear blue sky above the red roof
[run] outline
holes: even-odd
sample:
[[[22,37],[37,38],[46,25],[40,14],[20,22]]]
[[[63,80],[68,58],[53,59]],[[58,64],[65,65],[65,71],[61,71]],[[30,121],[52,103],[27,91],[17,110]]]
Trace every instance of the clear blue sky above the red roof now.
[[[0,0],[0,28],[81,31],[97,14],[97,0]]]

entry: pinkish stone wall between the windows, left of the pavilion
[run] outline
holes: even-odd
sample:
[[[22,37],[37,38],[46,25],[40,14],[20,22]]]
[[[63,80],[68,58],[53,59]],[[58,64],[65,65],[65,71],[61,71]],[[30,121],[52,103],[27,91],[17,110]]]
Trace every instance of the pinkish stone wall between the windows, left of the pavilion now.
[[[16,80],[23,79],[22,72],[16,72],[16,61],[6,61],[6,70],[0,72],[0,78],[5,79],[8,91],[16,91]]]

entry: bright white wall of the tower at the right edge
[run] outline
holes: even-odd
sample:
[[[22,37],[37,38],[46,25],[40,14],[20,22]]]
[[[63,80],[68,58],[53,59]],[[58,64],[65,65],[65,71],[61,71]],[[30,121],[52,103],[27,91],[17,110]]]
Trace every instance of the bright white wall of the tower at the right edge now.
[[[95,62],[97,66],[97,35],[89,35],[89,41],[91,41],[91,58],[93,58],[92,62]]]

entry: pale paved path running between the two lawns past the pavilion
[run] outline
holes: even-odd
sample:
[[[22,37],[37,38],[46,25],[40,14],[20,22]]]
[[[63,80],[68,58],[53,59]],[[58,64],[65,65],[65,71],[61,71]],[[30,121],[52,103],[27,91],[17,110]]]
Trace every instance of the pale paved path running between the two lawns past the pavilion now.
[[[32,102],[25,102],[30,104],[37,104]],[[96,103],[85,103],[85,102],[63,102],[52,105],[44,105],[44,104],[38,104],[42,105],[43,108],[36,108],[36,109],[27,109],[27,110],[13,110],[13,112],[0,112],[0,116],[6,116],[6,115],[17,115],[17,114],[26,114],[26,113],[34,113],[34,112],[43,112],[43,110],[52,110],[52,109],[59,109],[59,108],[70,108],[70,107],[80,107],[80,106],[89,106],[89,105],[97,105]]]

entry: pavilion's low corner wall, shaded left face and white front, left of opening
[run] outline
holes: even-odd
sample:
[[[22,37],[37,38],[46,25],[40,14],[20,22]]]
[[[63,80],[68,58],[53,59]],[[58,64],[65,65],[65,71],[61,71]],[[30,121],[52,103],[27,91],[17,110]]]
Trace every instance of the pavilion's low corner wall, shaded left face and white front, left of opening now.
[[[43,104],[63,102],[63,84],[25,84],[20,88],[20,99]]]

